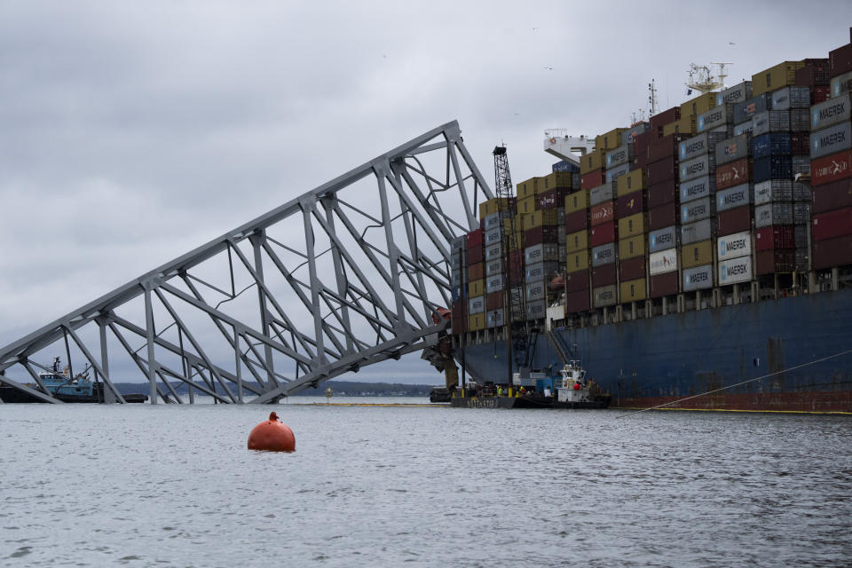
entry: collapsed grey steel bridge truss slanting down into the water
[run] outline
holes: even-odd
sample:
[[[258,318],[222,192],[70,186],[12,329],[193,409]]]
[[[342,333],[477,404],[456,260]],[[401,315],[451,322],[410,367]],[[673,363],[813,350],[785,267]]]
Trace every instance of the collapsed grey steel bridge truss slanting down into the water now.
[[[33,367],[68,336],[117,402],[274,402],[398,359],[446,330],[449,241],[492,197],[447,122],[0,348],[0,383],[59,402]]]

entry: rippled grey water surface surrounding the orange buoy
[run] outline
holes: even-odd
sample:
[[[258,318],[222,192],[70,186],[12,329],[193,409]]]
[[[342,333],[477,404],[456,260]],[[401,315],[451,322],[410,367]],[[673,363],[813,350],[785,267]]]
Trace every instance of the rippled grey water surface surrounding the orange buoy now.
[[[274,409],[0,406],[0,565],[852,563],[848,417]]]

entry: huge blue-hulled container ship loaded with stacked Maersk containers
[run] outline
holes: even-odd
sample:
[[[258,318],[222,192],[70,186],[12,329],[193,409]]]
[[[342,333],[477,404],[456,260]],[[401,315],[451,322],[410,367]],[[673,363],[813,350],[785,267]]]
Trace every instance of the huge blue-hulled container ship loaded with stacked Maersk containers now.
[[[517,191],[498,167],[451,243],[454,396],[581,359],[614,407],[852,412],[850,92],[847,43],[583,137]]]

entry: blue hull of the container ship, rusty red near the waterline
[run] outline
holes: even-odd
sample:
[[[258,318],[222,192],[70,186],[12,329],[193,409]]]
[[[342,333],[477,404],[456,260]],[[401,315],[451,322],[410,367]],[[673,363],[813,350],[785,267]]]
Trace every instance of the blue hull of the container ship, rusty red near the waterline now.
[[[674,406],[852,412],[852,352],[819,360],[852,351],[852,290],[555,334],[611,393],[611,406],[656,406],[790,369]],[[468,347],[464,367],[469,375],[505,383],[505,349],[502,342]],[[461,362],[461,354],[456,357]],[[540,335],[533,367],[550,365],[558,368],[562,362],[547,336]]]

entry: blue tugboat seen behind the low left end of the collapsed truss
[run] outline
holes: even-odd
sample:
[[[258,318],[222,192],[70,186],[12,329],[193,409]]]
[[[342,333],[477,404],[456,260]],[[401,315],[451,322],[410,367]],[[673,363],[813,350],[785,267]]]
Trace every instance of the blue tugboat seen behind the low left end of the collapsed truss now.
[[[68,367],[62,368],[59,357],[57,357],[53,359],[51,370],[39,373],[38,379],[54,398],[58,398],[62,402],[104,402],[104,383],[94,382],[89,378],[89,367],[86,367],[83,373],[78,373],[72,377],[68,372]],[[41,389],[38,383],[27,383],[26,386],[35,390]],[[126,402],[137,403],[145,402],[148,399],[144,394],[127,394],[122,395],[122,397]],[[36,398],[23,390],[7,385],[0,386],[0,399],[4,403],[44,402],[41,398]]]

